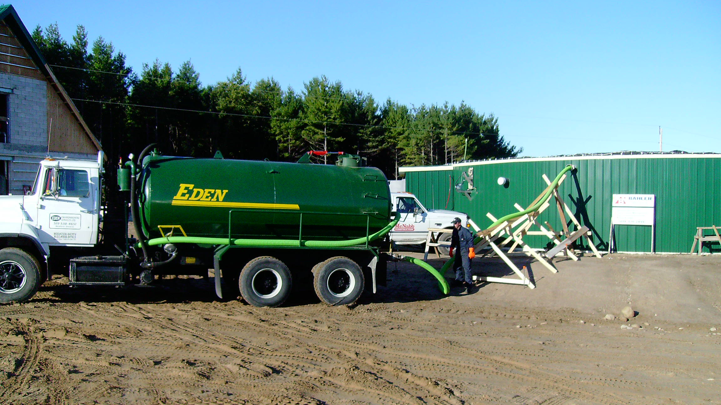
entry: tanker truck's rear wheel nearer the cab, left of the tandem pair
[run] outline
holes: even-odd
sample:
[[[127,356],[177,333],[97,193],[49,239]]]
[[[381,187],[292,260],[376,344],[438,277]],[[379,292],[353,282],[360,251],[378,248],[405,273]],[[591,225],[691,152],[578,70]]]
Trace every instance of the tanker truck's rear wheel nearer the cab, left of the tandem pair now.
[[[256,257],[240,272],[240,295],[252,306],[280,306],[291,294],[293,278],[275,257]]]

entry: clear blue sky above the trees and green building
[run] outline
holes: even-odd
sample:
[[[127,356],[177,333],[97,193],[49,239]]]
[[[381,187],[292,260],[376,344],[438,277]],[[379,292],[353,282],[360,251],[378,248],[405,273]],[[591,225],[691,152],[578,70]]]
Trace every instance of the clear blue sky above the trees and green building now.
[[[68,4],[71,4],[68,6]],[[141,71],[193,62],[409,106],[466,102],[521,156],[721,153],[721,1],[23,1],[32,32],[104,37]]]

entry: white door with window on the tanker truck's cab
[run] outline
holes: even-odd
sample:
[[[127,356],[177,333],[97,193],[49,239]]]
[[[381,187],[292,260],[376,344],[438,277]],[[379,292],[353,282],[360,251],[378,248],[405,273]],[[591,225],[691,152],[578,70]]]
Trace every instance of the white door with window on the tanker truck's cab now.
[[[94,181],[93,181],[94,180]],[[47,166],[40,182],[37,233],[50,245],[97,242],[97,177],[86,168]]]

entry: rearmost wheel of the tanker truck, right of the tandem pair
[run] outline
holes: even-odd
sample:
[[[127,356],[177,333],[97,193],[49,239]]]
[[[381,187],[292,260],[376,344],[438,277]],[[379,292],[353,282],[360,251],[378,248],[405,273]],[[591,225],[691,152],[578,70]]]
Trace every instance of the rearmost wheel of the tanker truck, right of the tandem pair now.
[[[350,305],[363,293],[363,271],[348,257],[331,257],[314,268],[313,285],[320,301]]]

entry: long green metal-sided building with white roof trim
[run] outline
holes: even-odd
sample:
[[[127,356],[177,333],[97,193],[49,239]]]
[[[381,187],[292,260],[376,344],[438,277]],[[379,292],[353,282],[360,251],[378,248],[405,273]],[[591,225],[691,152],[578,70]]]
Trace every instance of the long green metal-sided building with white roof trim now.
[[[721,226],[721,154],[644,153],[603,156],[476,161],[447,166],[402,167],[406,189],[426,208],[468,213],[480,228],[495,218],[517,212],[514,203],[528,205],[546,188],[542,179],[553,179],[566,165],[570,172],[559,194],[576,218],[593,232],[599,250],[607,250],[614,194],[655,195],[655,252],[689,252],[696,227]],[[472,169],[472,186],[467,178]],[[508,182],[499,184],[499,177]],[[549,207],[539,222],[562,229],[556,208]],[[569,221],[570,228],[573,224]],[[524,238],[531,246],[549,243],[545,236]],[[581,239],[579,239],[580,241]],[[615,226],[614,251],[651,252],[650,226]],[[720,249],[704,244],[704,252]]]

